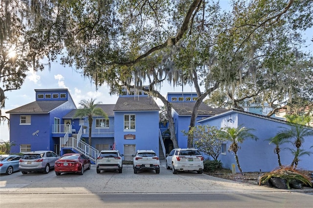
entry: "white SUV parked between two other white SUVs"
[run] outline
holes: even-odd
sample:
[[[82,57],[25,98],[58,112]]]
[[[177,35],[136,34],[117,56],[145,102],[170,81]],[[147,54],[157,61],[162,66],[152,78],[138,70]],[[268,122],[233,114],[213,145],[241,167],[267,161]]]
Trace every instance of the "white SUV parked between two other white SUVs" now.
[[[137,150],[133,155],[134,173],[138,170],[155,170],[160,173],[160,161],[153,150]]]

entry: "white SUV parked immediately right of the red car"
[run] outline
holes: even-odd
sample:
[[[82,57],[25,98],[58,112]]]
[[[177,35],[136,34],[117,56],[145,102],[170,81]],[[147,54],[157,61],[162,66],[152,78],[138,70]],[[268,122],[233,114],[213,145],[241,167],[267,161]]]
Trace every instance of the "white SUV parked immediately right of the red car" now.
[[[99,156],[97,157],[96,166],[97,173],[101,170],[118,170],[122,173],[122,157],[118,150],[101,150]]]

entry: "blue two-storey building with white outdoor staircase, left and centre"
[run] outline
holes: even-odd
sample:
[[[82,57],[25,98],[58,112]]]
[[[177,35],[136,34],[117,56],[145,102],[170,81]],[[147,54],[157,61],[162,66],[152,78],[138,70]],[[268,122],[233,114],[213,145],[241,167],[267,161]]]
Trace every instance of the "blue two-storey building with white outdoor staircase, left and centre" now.
[[[159,153],[160,108],[145,93],[123,91],[116,104],[98,104],[108,118],[93,117],[91,144],[87,118],[76,118],[77,108],[67,89],[36,89],[36,101],[10,110],[11,152],[52,150],[57,154],[83,152],[91,159],[102,149],[118,149],[132,160],[137,149]],[[89,148],[88,145],[92,146]]]

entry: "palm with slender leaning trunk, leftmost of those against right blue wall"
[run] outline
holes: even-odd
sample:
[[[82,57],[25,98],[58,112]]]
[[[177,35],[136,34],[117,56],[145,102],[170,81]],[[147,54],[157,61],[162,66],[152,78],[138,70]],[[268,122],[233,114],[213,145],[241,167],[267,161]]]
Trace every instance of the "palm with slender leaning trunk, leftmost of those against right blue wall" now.
[[[254,139],[255,141],[258,140],[258,138],[250,133],[251,130],[255,130],[253,128],[246,128],[241,127],[242,125],[235,127],[224,127],[222,128],[224,130],[224,138],[226,141],[231,142],[230,146],[228,147],[228,151],[233,151],[235,154],[235,159],[237,163],[237,167],[241,174],[244,174],[243,170],[241,169],[241,166],[239,164],[238,159],[238,149],[240,149],[239,143],[243,143],[246,139]]]

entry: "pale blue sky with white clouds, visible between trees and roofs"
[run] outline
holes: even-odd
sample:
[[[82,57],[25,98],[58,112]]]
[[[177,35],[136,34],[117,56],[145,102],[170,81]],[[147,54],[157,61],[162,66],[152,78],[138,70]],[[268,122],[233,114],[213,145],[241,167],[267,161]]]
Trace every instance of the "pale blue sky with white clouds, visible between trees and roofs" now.
[[[221,0],[224,4],[223,7],[227,9],[226,0]],[[304,33],[304,39],[307,41],[309,46],[305,49],[306,51],[313,52],[313,45],[310,41],[312,39],[313,28],[308,29]],[[47,63],[43,61],[43,63]],[[117,101],[117,95],[110,95],[109,87],[104,84],[98,90],[96,90],[95,85],[90,81],[89,78],[85,78],[77,72],[75,68],[65,67],[61,65],[60,62],[51,62],[50,70],[48,67],[41,72],[34,72],[32,69],[28,72],[27,77],[19,90],[12,90],[11,92],[6,92],[5,96],[5,108],[1,109],[2,115],[6,111],[20,107],[24,104],[34,102],[35,89],[59,89],[67,88],[71,97],[73,98],[76,107],[79,107],[79,102],[82,99],[96,99],[96,102],[101,102],[102,104],[115,104]],[[160,93],[166,97],[168,92],[181,92],[180,87],[173,87],[170,84],[164,84],[160,88]],[[183,92],[195,92],[195,89],[191,86],[184,86]],[[162,105],[160,100],[156,100],[156,103]],[[8,114],[5,114],[9,117]],[[0,121],[0,141],[9,141],[9,129],[7,122]]]

